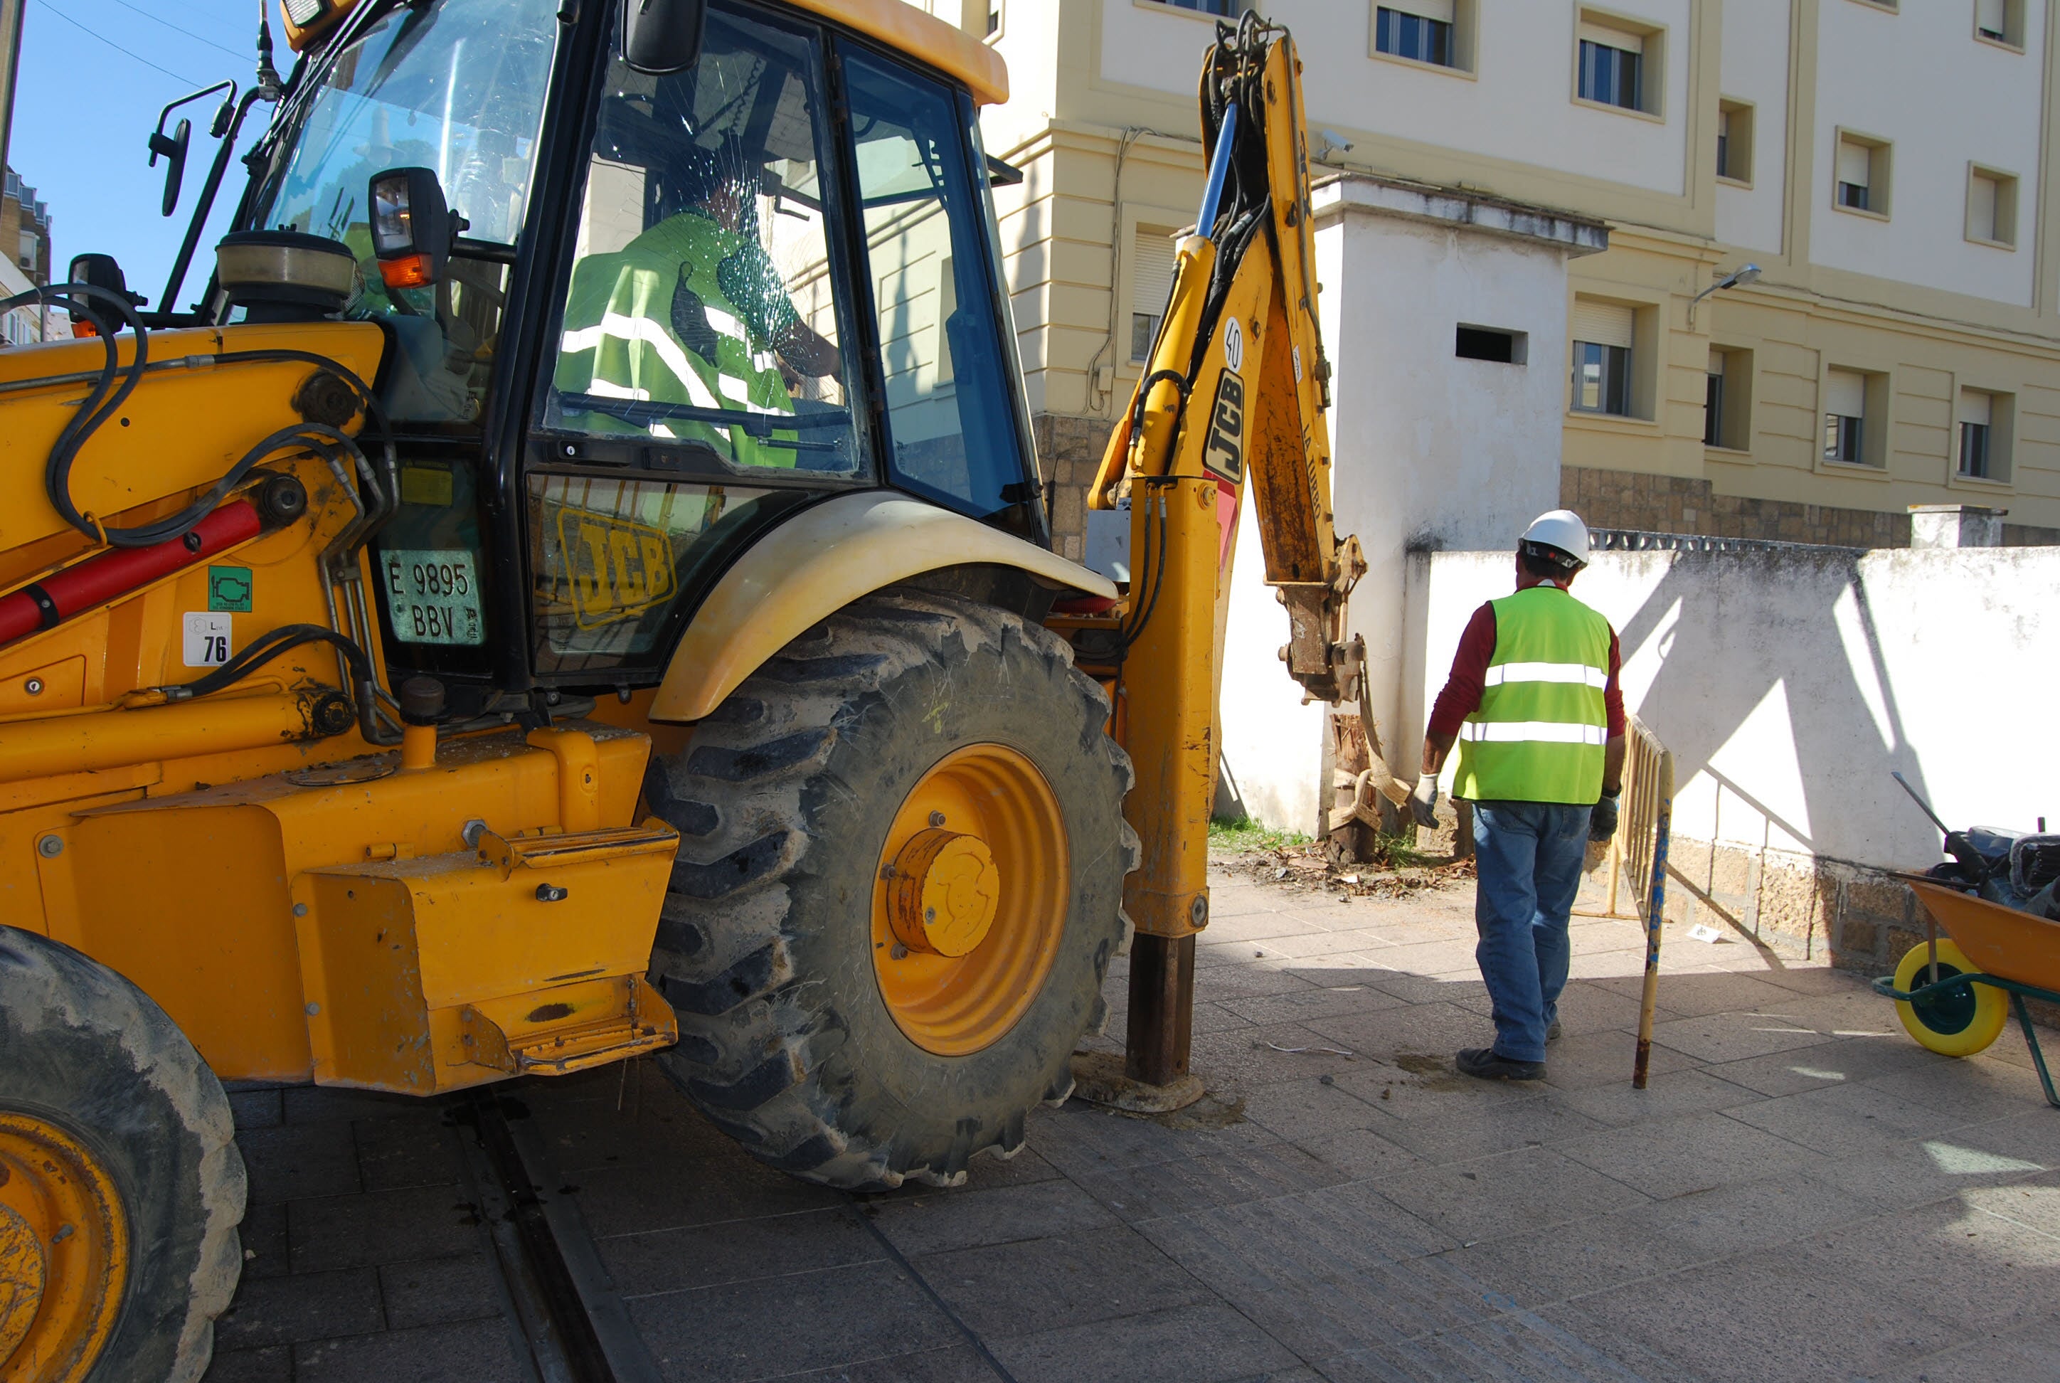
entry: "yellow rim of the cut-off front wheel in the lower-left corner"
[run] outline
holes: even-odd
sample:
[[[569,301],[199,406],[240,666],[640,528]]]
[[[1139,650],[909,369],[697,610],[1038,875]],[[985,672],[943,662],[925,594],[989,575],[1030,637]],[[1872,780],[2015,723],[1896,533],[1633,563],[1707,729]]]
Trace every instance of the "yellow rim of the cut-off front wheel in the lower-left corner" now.
[[[0,1111],[0,1377],[82,1379],[128,1282],[113,1179],[66,1129]]]

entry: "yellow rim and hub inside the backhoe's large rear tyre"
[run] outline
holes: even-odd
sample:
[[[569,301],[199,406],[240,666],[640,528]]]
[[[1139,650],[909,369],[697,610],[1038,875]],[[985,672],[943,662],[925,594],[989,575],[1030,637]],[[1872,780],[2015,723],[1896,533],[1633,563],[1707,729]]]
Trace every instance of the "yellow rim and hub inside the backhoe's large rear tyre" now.
[[[873,882],[873,973],[894,1022],[937,1055],[1016,1026],[1065,934],[1059,800],[1003,744],[948,754],[888,827]]]

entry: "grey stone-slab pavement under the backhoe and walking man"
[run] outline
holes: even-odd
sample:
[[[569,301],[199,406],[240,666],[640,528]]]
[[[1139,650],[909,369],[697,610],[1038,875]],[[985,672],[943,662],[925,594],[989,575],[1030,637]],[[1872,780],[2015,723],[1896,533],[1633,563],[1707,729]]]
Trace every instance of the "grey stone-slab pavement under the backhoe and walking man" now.
[[[1195,1012],[1211,1099],[1158,1121],[1042,1111],[1020,1156],[960,1189],[849,1198],[770,1173],[651,1064],[525,1082],[665,1375],[2060,1377],[2060,1111],[2015,1031],[1947,1061],[1856,977],[1669,927],[1652,1088],[1634,1092],[1642,934],[1576,919],[1549,1080],[1483,1084],[1450,1068],[1491,1031],[1471,888],[1213,886]],[[1108,996],[1121,1035],[1121,963]],[[342,1097],[280,1099],[293,1129],[295,1101]],[[311,1134],[245,1136],[266,1187],[247,1241],[288,1233],[251,1261],[210,1381],[519,1379],[505,1329],[488,1340],[490,1284],[464,1286],[490,1259],[447,1173],[414,1173],[412,1228],[369,1214],[396,1195],[373,1189],[379,1148],[410,1125],[433,1162],[453,1134],[385,1105],[354,1144],[338,1125],[350,1175],[307,1171],[334,1156]],[[363,1243],[338,1249],[325,1226],[352,1220]],[[319,1282],[262,1276],[272,1253],[286,1282]],[[282,1309],[325,1284],[330,1315]],[[453,1369],[441,1350],[466,1342]]]

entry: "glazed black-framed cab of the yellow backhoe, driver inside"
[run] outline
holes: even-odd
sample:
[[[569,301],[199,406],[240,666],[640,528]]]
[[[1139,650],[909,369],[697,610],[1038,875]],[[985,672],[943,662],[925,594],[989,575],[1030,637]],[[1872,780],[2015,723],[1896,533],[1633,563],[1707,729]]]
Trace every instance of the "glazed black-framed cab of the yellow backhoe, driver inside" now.
[[[455,713],[657,682],[737,554],[828,497],[1044,542],[962,80],[830,4],[709,4],[688,66],[639,70],[608,8],[360,6],[243,212],[356,256],[342,315],[387,334],[408,439],[387,664]],[[418,225],[379,251],[379,214]]]

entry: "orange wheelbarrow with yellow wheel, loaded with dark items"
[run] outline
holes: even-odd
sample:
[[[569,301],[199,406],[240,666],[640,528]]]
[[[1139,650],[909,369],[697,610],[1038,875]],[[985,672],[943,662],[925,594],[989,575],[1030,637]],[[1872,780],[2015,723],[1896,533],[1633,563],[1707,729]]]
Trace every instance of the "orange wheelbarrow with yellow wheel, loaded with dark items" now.
[[[1901,878],[1930,913],[1926,940],[1910,948],[1893,975],[1875,981],[1875,993],[1895,1000],[1910,1037],[1949,1057],[1984,1051],[2015,1010],[2046,1103],[2060,1109],[2025,1006],[2025,1000],[2060,1004],[2060,923],[1924,878]]]

